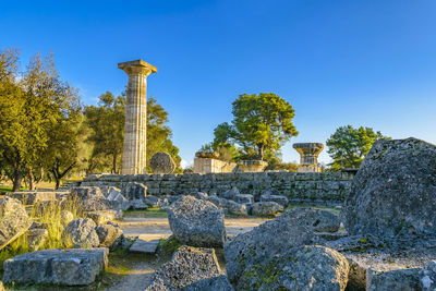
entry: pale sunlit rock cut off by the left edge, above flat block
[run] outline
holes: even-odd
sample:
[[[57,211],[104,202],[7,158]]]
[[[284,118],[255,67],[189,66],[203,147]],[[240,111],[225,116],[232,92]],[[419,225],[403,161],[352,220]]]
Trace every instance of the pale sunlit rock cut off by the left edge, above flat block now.
[[[25,233],[32,226],[23,204],[14,198],[0,199],[0,250]]]

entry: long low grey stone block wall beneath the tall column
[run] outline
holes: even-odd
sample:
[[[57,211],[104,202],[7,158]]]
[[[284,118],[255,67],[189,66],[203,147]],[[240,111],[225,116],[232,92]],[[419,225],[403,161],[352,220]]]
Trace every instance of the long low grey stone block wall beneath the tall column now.
[[[123,189],[130,182],[147,185],[149,195],[181,195],[191,192],[217,194],[237,186],[255,199],[267,190],[284,195],[295,203],[340,204],[350,190],[353,174],[341,172],[242,172],[242,173],[183,173],[183,174],[92,174],[82,186],[113,185]]]

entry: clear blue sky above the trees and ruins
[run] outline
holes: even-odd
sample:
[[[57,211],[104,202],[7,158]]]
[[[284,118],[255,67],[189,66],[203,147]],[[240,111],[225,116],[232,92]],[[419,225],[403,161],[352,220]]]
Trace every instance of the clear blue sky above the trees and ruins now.
[[[23,64],[52,50],[84,104],[123,90],[118,62],[156,65],[148,96],[169,112],[189,162],[242,93],[272,92],[294,107],[288,161],[299,158],[292,143],[325,143],[346,124],[436,144],[434,0],[5,1],[0,49],[9,47]]]

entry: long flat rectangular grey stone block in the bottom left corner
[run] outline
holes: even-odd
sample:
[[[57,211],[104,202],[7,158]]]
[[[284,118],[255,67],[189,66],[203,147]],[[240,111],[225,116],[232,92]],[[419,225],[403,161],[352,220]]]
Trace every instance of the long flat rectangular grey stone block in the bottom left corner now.
[[[82,286],[108,264],[108,248],[44,250],[7,259],[4,282]]]

